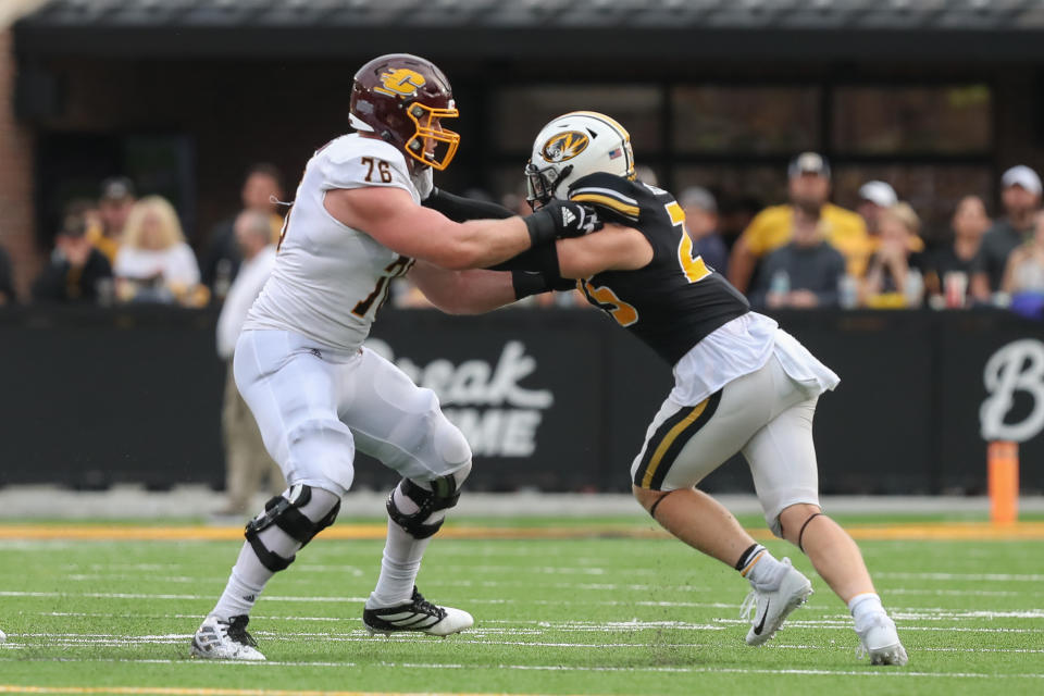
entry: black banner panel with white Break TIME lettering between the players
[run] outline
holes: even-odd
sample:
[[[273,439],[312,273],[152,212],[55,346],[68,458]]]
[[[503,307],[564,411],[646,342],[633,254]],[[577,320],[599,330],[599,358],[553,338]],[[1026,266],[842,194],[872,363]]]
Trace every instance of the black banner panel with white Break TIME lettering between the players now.
[[[471,444],[475,486],[577,489],[599,483],[601,332],[588,322],[552,318],[544,324],[540,314],[388,312],[366,343],[435,391]],[[360,465],[356,475],[363,483],[389,481],[376,465]]]

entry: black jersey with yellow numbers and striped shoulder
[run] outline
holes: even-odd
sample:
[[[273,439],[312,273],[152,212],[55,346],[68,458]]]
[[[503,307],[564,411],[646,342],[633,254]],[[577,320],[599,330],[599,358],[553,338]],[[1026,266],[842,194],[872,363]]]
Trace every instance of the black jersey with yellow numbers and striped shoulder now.
[[[604,271],[577,281],[577,286],[587,301],[669,363],[676,363],[722,324],[750,311],[738,290],[693,256],[685,213],[668,191],[596,173],[577,179],[569,198],[593,206],[606,222],[634,227],[649,240],[652,260],[648,265]]]

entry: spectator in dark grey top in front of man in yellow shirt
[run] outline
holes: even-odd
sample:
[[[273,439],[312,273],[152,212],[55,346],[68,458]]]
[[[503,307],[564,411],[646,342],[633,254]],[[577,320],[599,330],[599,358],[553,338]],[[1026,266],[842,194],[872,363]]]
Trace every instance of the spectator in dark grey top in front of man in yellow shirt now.
[[[756,309],[836,306],[844,274],[845,258],[826,244],[821,221],[797,209],[791,241],[766,257],[750,304]]]

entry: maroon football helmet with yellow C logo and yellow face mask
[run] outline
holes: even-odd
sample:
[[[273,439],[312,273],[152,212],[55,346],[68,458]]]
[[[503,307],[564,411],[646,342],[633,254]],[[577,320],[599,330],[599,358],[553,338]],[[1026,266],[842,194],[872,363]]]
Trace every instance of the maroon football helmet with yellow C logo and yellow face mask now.
[[[446,75],[423,58],[390,53],[356,73],[351,125],[381,136],[421,164],[446,169],[460,136],[440,121],[459,115]]]

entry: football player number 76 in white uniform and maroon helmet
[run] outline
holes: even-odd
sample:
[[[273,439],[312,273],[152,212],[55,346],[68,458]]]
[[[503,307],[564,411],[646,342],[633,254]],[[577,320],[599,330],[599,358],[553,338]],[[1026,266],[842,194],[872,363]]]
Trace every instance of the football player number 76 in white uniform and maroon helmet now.
[[[334,522],[357,448],[402,475],[388,498],[364,626],[446,636],[473,624],[414,584],[425,547],[457,504],[471,450],[435,395],[362,341],[389,283],[414,261],[423,266],[417,283],[436,302],[465,294],[488,309],[529,290],[512,274],[478,269],[599,224],[589,208],[568,201],[467,223],[421,207],[431,170],[445,169],[459,142],[443,126],[458,115],[449,82],[424,59],[391,54],[363,65],[350,114],[357,133],[327,144],[304,169],[275,268],[236,345],[236,385],[289,488],[247,524],[227,586],[194,636],[196,657],[264,659],[246,631],[249,612],[265,583]]]

